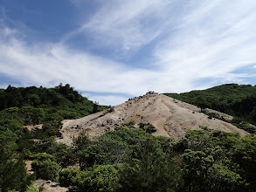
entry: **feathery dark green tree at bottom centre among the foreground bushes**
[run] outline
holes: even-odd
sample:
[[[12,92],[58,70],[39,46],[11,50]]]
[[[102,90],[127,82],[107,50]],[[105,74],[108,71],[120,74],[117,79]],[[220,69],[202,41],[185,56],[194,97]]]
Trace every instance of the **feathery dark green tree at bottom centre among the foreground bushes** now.
[[[140,160],[128,158],[119,170],[118,191],[177,191],[183,187],[178,163],[163,153],[159,143],[142,144]]]

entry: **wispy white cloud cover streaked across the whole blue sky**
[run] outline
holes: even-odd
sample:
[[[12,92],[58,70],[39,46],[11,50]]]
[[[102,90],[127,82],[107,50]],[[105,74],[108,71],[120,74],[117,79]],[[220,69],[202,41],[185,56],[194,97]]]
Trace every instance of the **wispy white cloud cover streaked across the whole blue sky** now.
[[[149,55],[149,65],[154,69],[72,50],[67,42],[27,45],[17,38],[18,30],[1,25],[1,73],[24,86],[57,86],[62,82],[81,91],[115,93],[89,96],[104,105],[127,99],[116,93],[138,96],[148,90],[185,92],[216,82],[243,83],[249,75],[233,71],[256,62],[256,3],[186,2],[108,1],[79,30],[66,36],[86,33],[99,47],[121,51],[138,51],[152,44],[154,54]],[[198,79],[208,81],[199,85]]]

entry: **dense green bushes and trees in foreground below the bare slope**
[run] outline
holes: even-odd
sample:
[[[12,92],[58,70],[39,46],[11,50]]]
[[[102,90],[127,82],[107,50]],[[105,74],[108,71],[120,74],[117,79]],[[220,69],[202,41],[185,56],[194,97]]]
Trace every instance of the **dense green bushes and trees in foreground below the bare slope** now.
[[[253,191],[256,137],[190,130],[183,140],[116,127],[89,141],[81,134],[73,153],[79,169],[60,173],[73,191]]]

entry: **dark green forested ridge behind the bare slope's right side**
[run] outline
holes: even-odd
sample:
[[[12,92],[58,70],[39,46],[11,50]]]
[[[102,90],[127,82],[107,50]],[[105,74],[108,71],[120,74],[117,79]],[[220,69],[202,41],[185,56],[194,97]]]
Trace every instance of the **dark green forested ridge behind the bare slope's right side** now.
[[[189,93],[165,93],[184,102],[231,114],[256,125],[256,86],[226,84]]]

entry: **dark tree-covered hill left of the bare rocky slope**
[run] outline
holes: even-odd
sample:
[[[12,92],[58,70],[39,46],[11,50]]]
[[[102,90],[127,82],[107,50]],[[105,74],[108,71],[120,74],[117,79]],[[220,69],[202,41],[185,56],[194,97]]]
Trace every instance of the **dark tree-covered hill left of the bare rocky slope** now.
[[[28,120],[24,124],[39,124],[51,118],[81,118],[95,112],[95,105],[68,84],[54,88],[8,86],[0,89],[0,111],[22,116]],[[97,111],[104,108],[107,106],[97,105]]]

